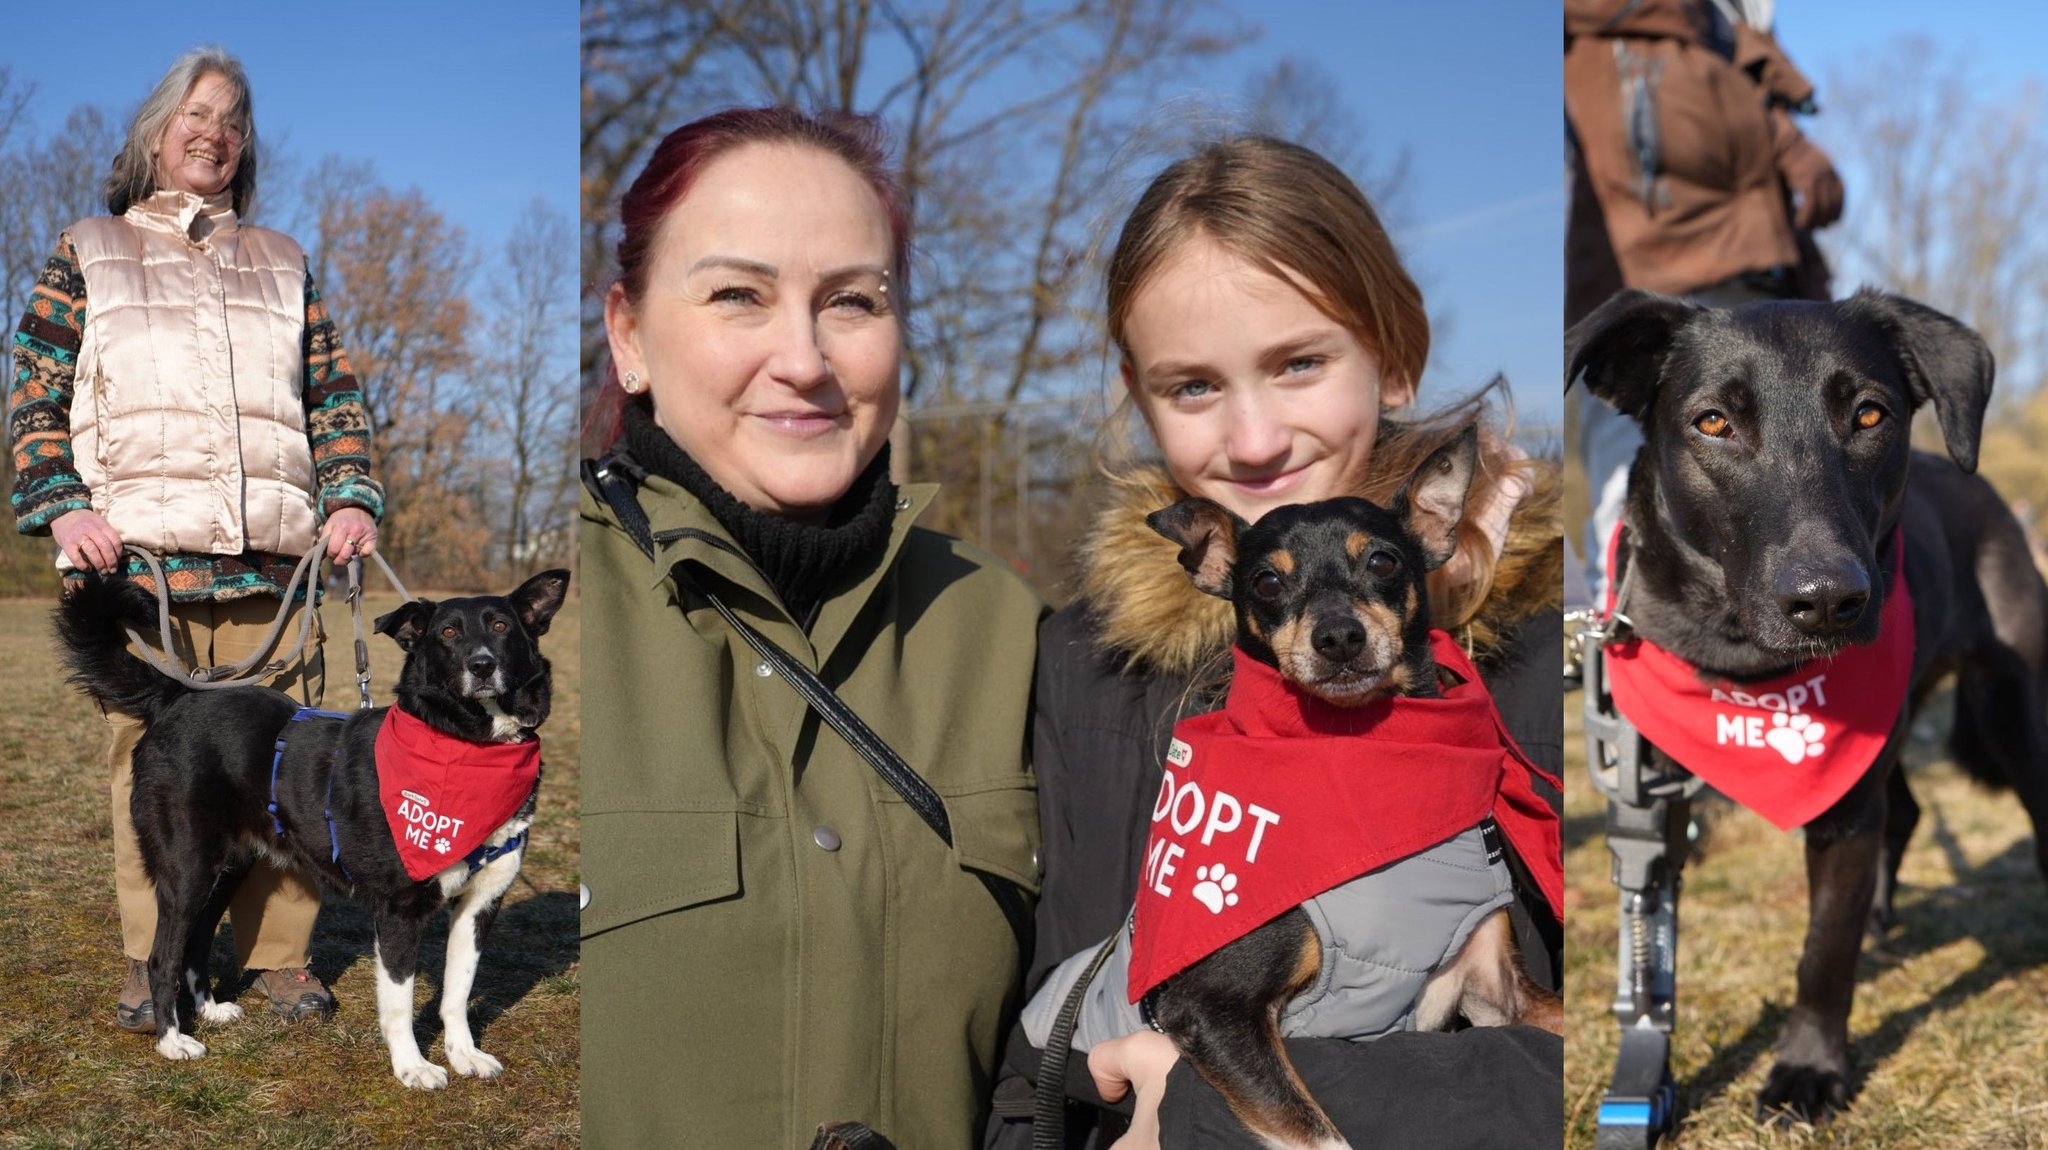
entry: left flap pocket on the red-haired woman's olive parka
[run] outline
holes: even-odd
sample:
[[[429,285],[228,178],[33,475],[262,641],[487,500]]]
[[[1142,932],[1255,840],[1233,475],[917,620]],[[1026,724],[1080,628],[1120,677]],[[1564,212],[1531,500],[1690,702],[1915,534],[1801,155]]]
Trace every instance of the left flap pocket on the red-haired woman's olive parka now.
[[[739,894],[733,810],[584,812],[588,939],[653,915]]]

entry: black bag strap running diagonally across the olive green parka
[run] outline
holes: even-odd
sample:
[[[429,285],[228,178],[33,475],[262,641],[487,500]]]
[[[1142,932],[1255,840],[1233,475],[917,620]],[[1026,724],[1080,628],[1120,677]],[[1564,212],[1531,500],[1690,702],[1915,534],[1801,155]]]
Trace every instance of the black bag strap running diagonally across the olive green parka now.
[[[639,495],[633,489],[633,475],[621,465],[618,452],[596,460],[584,460],[584,485],[610,505],[612,514],[618,516],[621,526],[625,526],[627,534],[633,536],[633,542],[639,544],[649,559],[653,559],[653,530],[647,522],[647,512],[639,505]],[[674,538],[696,538],[721,550],[739,555],[729,542],[711,532],[686,528],[676,532]],[[739,559],[745,557],[739,555]],[[754,624],[733,614],[733,610],[725,606],[725,600],[711,593],[711,589],[690,575],[682,563],[676,565],[674,575],[688,583],[692,591],[702,595],[711,608],[719,612],[719,618],[737,630],[739,636],[748,640],[748,647],[752,647],[754,653],[782,677],[782,681],[795,688],[797,694],[803,696],[803,702],[809,704],[811,710],[815,710],[817,716],[823,718],[834,731],[838,731],[854,753],[874,767],[874,773],[889,784],[889,790],[897,792],[897,796],[901,796],[903,802],[909,804],[920,819],[924,819],[926,827],[930,827],[938,839],[946,843],[946,847],[952,847],[952,819],[946,814],[946,800],[932,790],[932,784],[924,782],[924,776],[903,761],[903,755],[897,755],[895,747],[862,722],[862,718],[854,714],[854,708],[846,706],[846,702],[840,700],[840,696],[834,694],[815,671],[799,663],[788,651],[776,647],[774,640],[756,630]],[[979,878],[981,884],[987,886],[989,896],[995,898],[995,906],[1004,913],[1004,921],[1010,923],[1010,933],[1018,939],[1020,962],[1028,964],[1032,954],[1032,917],[1030,906],[1024,902],[1024,894],[1016,888],[1016,884],[1004,878],[973,868],[969,868],[969,872]]]

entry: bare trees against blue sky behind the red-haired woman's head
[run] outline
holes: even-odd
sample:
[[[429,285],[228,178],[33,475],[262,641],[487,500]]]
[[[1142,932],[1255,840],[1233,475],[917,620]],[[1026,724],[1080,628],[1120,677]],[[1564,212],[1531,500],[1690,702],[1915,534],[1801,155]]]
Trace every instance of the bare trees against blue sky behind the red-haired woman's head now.
[[[1241,39],[1210,25],[1200,0],[590,2],[584,278],[608,266],[618,182],[662,131],[731,100],[858,106],[893,125],[918,213],[907,397],[1026,397],[1092,338],[1073,319],[1094,192],[1145,94]],[[586,379],[600,350],[586,336]]]

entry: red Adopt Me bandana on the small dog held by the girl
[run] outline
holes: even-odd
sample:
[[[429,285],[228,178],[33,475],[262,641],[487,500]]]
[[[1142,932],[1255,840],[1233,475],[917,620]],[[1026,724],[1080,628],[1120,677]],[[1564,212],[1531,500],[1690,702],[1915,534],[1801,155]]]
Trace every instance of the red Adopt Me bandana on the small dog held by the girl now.
[[[1556,812],[1479,671],[1442,630],[1444,698],[1362,708],[1303,694],[1235,651],[1223,710],[1174,728],[1130,931],[1130,1001],[1290,906],[1425,851],[1487,814],[1552,913],[1565,872]]]

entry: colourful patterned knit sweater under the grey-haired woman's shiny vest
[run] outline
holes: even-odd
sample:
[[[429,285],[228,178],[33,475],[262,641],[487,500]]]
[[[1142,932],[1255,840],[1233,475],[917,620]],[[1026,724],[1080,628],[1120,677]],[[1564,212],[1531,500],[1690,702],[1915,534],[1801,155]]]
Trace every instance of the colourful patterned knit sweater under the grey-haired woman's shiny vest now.
[[[8,438],[14,450],[14,528],[23,534],[49,534],[57,516],[92,507],[92,493],[72,456],[72,391],[84,329],[86,280],[78,270],[72,235],[63,233],[14,331]],[[383,487],[369,475],[371,428],[362,387],[348,370],[348,356],[311,274],[305,276],[301,358],[319,514],[362,507],[381,518]],[[162,559],[170,598],[178,602],[281,595],[299,561],[295,555],[268,550]],[[127,557],[127,577],[152,583],[147,567],[133,555]]]

